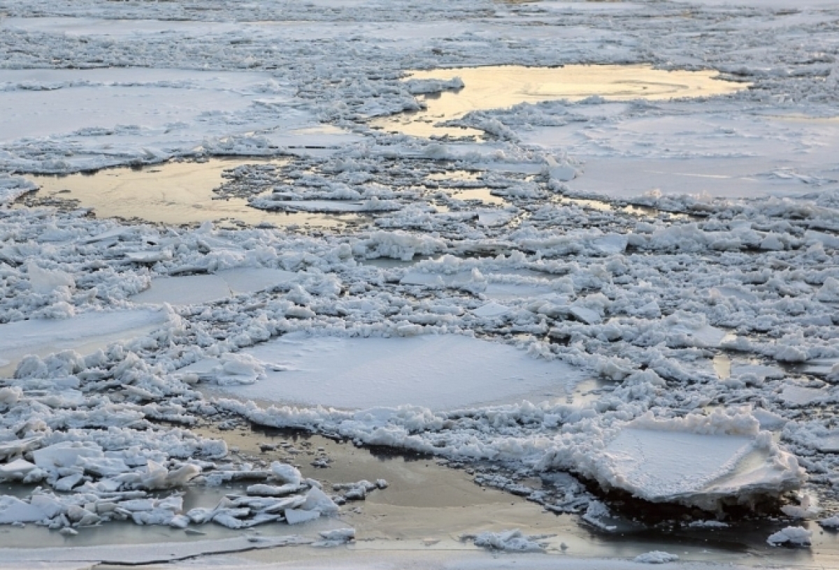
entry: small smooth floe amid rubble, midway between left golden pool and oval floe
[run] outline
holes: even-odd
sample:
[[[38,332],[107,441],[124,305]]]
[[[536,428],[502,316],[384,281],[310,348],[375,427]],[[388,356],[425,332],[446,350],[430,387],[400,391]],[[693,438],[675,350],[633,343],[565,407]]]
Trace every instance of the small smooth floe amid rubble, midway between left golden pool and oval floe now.
[[[211,303],[242,293],[256,293],[294,281],[297,273],[282,269],[225,269],[211,275],[159,277],[151,287],[134,295],[134,303],[190,305]]]

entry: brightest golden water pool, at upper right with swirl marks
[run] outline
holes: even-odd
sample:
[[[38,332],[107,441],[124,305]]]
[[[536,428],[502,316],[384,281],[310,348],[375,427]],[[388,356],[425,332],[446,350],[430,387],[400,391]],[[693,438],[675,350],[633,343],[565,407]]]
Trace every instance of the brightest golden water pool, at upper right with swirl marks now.
[[[411,71],[406,79],[451,80],[460,77],[460,91],[425,96],[424,111],[399,113],[373,120],[371,125],[387,132],[414,137],[449,135],[482,136],[473,128],[435,127],[438,122],[459,119],[470,111],[503,109],[519,103],[566,99],[580,101],[602,96],[609,101],[668,100],[681,97],[716,96],[742,91],[748,85],[719,79],[714,70],[655,70],[651,65],[565,65],[525,67],[492,65],[448,70]]]

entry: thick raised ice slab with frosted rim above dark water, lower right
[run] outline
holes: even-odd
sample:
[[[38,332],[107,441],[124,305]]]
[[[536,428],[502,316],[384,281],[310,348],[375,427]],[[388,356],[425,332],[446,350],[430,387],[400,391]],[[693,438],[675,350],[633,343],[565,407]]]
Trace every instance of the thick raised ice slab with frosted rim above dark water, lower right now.
[[[750,413],[670,420],[648,413],[609,438],[599,453],[581,459],[581,474],[606,489],[707,510],[778,495],[805,479],[795,457],[771,433],[759,431]]]

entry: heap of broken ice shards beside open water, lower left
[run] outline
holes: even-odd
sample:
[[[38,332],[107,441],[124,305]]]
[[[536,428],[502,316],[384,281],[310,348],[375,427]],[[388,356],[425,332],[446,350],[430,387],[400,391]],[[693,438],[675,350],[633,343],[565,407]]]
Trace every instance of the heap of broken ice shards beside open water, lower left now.
[[[184,500],[174,492],[162,498],[149,491],[169,490],[185,485],[201,473],[196,464],[185,464],[167,470],[151,459],[144,469],[128,469],[117,453],[105,456],[101,449],[55,444],[34,452],[35,464],[17,459],[8,464],[4,475],[24,482],[45,482],[55,491],[74,491],[72,495],[56,494],[41,488],[28,501],[10,495],[0,497],[0,524],[34,522],[50,529],[76,532],[74,527],[97,525],[107,521],[133,521],[138,525],[165,525],[184,529],[215,522],[232,529],[250,528],[268,522],[289,525],[333,515],[338,505],[312,479],[302,479],[291,465],[274,462],[270,472],[216,471],[209,477],[221,481],[232,479],[264,479],[281,485],[250,485],[246,495],[228,495],[216,507],[194,508],[184,512]],[[14,469],[14,473],[12,473]],[[60,477],[53,479],[50,477]],[[93,482],[86,474],[109,474]],[[86,480],[79,485],[83,479]],[[341,535],[342,536],[342,535]],[[329,541],[348,540],[347,536],[326,537]]]

